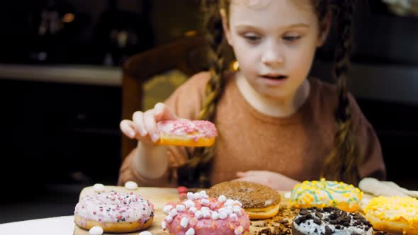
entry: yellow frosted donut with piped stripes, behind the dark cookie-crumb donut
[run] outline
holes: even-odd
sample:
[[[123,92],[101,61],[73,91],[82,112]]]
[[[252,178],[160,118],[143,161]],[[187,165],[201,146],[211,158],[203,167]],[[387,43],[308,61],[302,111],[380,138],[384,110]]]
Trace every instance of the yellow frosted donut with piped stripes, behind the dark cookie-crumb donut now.
[[[304,181],[295,185],[290,205],[296,208],[338,207],[346,212],[360,209],[363,192],[353,185],[328,180]]]

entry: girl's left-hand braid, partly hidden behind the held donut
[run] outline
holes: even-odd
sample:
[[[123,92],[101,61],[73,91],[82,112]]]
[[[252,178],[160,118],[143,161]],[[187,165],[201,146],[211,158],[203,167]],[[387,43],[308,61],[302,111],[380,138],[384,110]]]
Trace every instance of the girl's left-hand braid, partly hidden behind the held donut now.
[[[198,115],[198,120],[211,120],[215,118],[216,103],[224,90],[225,81],[222,73],[225,70],[225,59],[222,55],[222,48],[225,44],[225,37],[220,17],[220,3],[215,0],[203,1],[205,12],[205,39],[208,42],[208,65],[210,79],[206,84],[205,103]],[[196,147],[185,166],[179,173],[179,184],[195,187],[209,187],[210,160],[215,156],[215,145],[212,147]],[[196,182],[198,180],[199,182]]]

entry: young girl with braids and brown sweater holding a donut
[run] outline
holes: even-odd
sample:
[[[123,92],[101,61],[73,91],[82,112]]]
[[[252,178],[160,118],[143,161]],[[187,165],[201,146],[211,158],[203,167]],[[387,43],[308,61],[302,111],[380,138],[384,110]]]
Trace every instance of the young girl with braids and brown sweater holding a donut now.
[[[322,177],[354,184],[385,178],[373,127],[346,87],[353,1],[211,0],[204,6],[210,71],[120,122],[138,145],[120,168],[119,184],[208,187],[247,180],[290,190]],[[335,86],[307,77],[333,19],[339,26]],[[237,71],[225,67],[225,39]],[[179,118],[214,122],[215,145],[155,145],[156,122]]]

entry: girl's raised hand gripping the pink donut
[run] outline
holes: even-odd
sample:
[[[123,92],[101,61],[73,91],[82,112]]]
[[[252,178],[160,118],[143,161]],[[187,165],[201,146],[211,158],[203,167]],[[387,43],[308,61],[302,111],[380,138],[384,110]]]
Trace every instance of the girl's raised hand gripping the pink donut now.
[[[120,130],[131,139],[137,139],[145,144],[154,144],[159,139],[157,122],[162,120],[178,120],[164,103],[157,103],[154,108],[145,112],[136,111],[132,120],[122,120]]]

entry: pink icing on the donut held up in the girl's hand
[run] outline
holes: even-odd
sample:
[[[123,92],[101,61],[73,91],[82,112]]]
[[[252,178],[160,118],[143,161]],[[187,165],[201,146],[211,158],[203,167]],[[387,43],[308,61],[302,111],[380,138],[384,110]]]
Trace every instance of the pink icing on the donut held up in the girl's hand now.
[[[215,125],[206,120],[167,120],[158,122],[157,127],[164,134],[208,138],[218,135]]]

